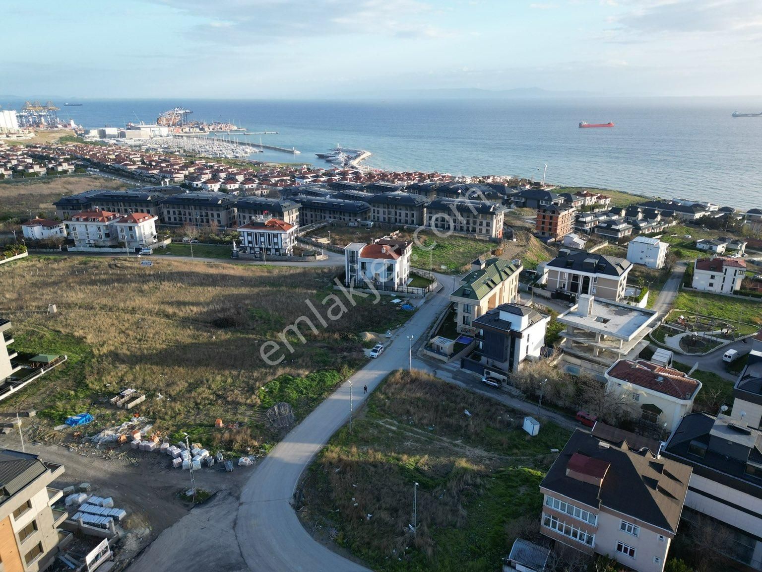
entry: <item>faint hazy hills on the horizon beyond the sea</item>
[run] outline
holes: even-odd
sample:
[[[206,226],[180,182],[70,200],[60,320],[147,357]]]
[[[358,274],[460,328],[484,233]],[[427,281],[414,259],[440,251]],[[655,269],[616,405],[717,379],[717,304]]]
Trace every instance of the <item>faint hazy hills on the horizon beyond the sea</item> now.
[[[357,98],[383,99],[553,99],[590,98],[600,94],[594,92],[555,92],[543,88],[481,89],[481,88],[433,88],[398,89],[389,92],[362,92],[350,95]],[[346,97],[346,95],[344,95]]]

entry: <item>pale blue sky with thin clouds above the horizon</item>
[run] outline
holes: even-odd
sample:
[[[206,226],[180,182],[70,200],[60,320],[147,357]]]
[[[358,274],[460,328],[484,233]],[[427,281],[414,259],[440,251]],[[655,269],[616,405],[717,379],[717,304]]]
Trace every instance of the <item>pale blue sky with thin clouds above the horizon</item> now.
[[[5,0],[0,95],[762,98],[760,0]]]

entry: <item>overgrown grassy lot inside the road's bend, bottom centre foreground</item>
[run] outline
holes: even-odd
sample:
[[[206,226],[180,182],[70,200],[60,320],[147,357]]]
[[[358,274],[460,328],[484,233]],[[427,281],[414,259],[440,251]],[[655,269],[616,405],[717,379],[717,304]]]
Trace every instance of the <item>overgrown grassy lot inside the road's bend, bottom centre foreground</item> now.
[[[549,449],[568,439],[552,424],[530,438],[519,419],[427,374],[390,374],[306,474],[308,529],[373,570],[497,570],[517,535],[536,535]]]

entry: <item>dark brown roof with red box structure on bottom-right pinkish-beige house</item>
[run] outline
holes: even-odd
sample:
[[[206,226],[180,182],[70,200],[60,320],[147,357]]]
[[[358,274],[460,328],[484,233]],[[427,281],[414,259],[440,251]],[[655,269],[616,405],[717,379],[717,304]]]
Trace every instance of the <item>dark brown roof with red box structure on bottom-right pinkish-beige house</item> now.
[[[575,453],[609,464],[600,487],[567,476]],[[614,444],[601,446],[599,439],[576,429],[540,487],[677,532],[690,473],[685,464],[656,458],[648,449],[635,452]]]

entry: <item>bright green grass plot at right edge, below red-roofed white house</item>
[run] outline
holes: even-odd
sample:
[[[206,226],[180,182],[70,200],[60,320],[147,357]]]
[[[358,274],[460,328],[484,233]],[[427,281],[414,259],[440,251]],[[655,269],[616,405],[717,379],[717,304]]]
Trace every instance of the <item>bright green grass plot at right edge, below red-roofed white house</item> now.
[[[762,327],[762,303],[757,298],[744,300],[706,292],[681,291],[677,294],[673,307],[671,318],[678,313],[708,316],[737,327],[742,334],[754,333]]]

